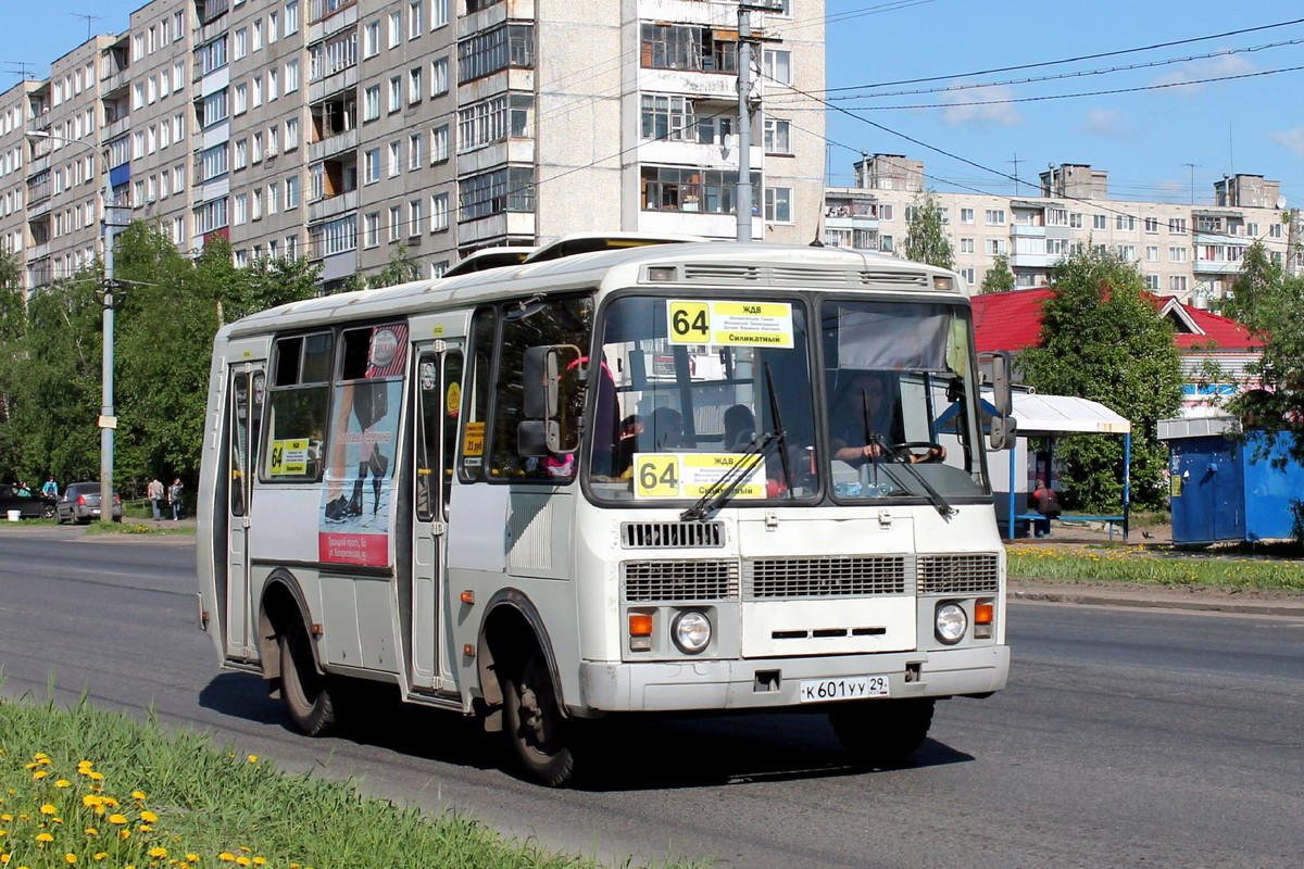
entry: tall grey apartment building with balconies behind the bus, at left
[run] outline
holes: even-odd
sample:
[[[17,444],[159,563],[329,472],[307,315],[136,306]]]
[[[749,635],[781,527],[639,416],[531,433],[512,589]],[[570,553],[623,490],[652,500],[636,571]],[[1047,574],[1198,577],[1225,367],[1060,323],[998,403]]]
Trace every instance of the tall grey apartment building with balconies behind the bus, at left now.
[[[805,244],[824,0],[748,7],[751,236]],[[574,232],[733,238],[739,53],[738,0],[154,0],[0,95],[0,242],[29,287],[98,253],[102,163],[33,125],[180,249],[306,255],[327,289]]]

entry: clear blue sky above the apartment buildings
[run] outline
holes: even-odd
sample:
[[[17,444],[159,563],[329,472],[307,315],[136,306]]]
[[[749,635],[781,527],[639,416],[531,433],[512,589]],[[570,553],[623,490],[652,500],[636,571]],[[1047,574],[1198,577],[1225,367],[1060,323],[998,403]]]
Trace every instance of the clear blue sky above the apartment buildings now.
[[[82,16],[98,16],[90,22],[95,33],[120,33],[141,5],[0,0],[0,87],[18,81],[21,63],[46,76],[51,60],[86,39]],[[1193,181],[1194,201],[1208,203],[1217,178],[1245,172],[1281,181],[1288,202],[1304,206],[1304,69],[1275,72],[1304,66],[1304,22],[1270,26],[1304,18],[1304,7],[827,0],[825,13],[825,86],[846,90],[824,96],[858,116],[829,115],[831,184],[850,184],[857,152],[868,151],[925,160],[928,184],[939,190],[1012,194],[1015,181],[1005,176],[1016,175],[1017,159],[1022,193],[1031,193],[1048,163],[1089,163],[1108,171],[1116,198],[1188,202]],[[1230,33],[1236,30],[1248,33]],[[1183,44],[1133,51],[1175,42]],[[1116,53],[1050,63],[1107,52]],[[1116,69],[1140,64],[1149,65]],[[1026,68],[979,74],[1008,66]],[[1058,78],[1021,81],[1051,76]],[[917,78],[938,79],[888,85]],[[936,90],[944,87],[952,90]],[[918,106],[925,108],[904,108]],[[801,115],[793,121],[801,126]]]

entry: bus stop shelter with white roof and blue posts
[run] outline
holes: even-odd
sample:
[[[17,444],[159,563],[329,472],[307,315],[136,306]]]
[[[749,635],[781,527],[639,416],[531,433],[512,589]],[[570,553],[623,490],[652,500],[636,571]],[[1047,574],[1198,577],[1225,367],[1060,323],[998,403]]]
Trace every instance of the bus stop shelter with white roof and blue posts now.
[[[1104,522],[1114,537],[1114,526],[1120,525],[1123,539],[1128,537],[1128,504],[1131,502],[1132,466],[1132,423],[1090,399],[1068,395],[1042,395],[1037,392],[1015,392],[1013,413],[1015,446],[1004,452],[994,452],[987,457],[992,479],[992,495],[996,502],[996,520],[1003,526],[1005,539],[1013,539],[1018,522],[1030,522],[1038,517],[1028,503],[1029,461],[1028,442],[1041,438],[1047,442],[1050,459],[1047,469],[1054,463],[1055,442],[1065,436],[1082,435],[1123,435],[1123,504],[1116,515],[1102,516],[1060,516],[1059,521]],[[985,404],[987,399],[985,397]],[[1000,490],[1005,481],[1005,490]],[[1050,481],[1047,481],[1050,482]]]

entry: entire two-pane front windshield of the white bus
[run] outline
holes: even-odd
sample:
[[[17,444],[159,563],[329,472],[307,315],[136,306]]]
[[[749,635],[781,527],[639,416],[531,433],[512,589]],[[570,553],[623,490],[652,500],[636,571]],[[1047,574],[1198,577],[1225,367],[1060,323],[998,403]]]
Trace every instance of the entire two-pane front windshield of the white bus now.
[[[798,297],[606,305],[593,496],[651,506],[724,489],[720,500],[746,506],[812,503],[827,490],[949,509],[948,499],[988,494],[968,309],[828,298],[818,378],[807,319]]]

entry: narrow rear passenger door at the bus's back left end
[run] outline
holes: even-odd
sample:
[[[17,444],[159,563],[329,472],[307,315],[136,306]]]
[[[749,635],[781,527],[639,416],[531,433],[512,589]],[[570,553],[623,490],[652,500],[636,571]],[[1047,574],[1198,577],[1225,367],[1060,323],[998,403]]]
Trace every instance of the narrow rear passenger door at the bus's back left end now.
[[[249,508],[258,466],[258,427],[262,422],[262,362],[231,366],[227,413],[231,442],[227,448],[227,588],[226,623],[228,658],[249,661],[253,648],[253,602],[249,589]]]

